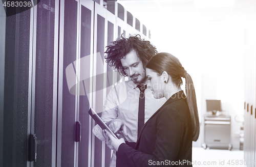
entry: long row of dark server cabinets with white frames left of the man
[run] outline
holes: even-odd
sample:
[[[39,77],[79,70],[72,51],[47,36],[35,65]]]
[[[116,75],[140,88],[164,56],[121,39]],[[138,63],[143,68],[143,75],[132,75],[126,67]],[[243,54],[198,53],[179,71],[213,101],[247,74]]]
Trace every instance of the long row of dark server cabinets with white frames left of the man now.
[[[41,0],[8,17],[1,8],[1,166],[108,166],[111,150],[87,111],[102,110],[121,78],[103,59],[118,25],[126,37],[140,33],[112,3],[114,14],[91,0]]]

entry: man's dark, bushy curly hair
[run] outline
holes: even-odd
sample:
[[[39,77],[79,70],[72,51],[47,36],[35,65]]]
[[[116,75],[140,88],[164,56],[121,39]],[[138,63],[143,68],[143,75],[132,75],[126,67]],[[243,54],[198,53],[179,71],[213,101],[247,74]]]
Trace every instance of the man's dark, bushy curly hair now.
[[[140,61],[145,69],[148,61],[151,60],[153,55],[157,53],[156,47],[150,43],[141,39],[140,35],[131,36],[129,38],[118,38],[112,42],[113,45],[106,46],[106,63],[113,67],[115,71],[118,71],[124,76],[128,76],[124,71],[121,64],[121,59],[125,57],[130,51],[135,50]]]

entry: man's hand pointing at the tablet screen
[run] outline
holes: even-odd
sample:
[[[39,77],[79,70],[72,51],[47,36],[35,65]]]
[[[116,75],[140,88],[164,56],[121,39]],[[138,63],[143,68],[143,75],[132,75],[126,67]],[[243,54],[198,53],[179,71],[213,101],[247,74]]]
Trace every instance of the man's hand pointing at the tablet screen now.
[[[113,133],[121,134],[123,131],[123,135],[127,136],[126,126],[123,124],[123,121],[120,119],[111,120],[109,123],[109,128]]]

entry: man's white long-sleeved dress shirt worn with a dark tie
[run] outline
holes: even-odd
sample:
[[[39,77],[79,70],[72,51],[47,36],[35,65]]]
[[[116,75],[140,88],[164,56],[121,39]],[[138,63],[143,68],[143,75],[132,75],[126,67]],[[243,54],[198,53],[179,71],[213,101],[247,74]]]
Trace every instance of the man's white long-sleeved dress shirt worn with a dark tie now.
[[[138,136],[138,108],[140,90],[132,80],[126,80],[113,87],[106,97],[101,119],[109,122],[113,119],[121,119],[127,128],[125,141],[137,142]],[[155,99],[150,88],[145,90],[145,121],[146,122],[160,108],[165,98]],[[93,133],[101,141],[105,141],[101,128],[96,125]],[[116,152],[111,158],[111,167],[116,166]]]

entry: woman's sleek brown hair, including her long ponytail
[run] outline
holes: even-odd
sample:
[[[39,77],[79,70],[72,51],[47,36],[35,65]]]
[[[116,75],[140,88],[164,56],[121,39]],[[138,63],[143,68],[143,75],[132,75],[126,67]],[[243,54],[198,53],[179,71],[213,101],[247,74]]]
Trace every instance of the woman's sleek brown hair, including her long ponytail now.
[[[177,86],[182,85],[181,77],[186,79],[186,100],[193,126],[193,141],[197,141],[200,132],[200,126],[195,88],[190,75],[182,67],[179,59],[170,53],[158,53],[150,60],[150,62],[148,62],[146,68],[152,69],[159,75],[166,71],[172,78],[174,84]]]

